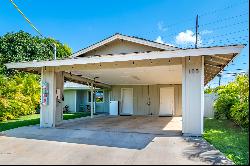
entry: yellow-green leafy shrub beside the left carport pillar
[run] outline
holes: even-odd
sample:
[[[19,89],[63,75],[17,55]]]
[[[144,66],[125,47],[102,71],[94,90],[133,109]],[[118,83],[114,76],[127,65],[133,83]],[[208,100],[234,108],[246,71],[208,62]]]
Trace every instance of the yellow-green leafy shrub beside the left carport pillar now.
[[[39,77],[19,73],[0,76],[0,121],[36,112],[40,102]]]

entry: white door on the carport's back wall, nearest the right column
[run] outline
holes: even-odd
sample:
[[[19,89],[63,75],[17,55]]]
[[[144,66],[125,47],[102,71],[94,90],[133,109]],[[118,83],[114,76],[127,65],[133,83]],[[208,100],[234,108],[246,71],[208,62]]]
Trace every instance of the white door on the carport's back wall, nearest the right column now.
[[[160,88],[160,116],[174,114],[174,87]]]

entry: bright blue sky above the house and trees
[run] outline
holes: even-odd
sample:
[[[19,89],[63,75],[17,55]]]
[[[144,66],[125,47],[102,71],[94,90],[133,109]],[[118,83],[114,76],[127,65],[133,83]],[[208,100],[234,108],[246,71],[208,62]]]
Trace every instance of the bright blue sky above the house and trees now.
[[[116,32],[193,47],[195,17],[199,17],[199,46],[248,43],[247,0],[14,0],[46,37],[67,43],[77,51]],[[24,30],[37,33],[9,0],[0,5],[0,35]],[[225,74],[249,70],[248,46],[226,68]],[[218,85],[216,77],[210,83]]]

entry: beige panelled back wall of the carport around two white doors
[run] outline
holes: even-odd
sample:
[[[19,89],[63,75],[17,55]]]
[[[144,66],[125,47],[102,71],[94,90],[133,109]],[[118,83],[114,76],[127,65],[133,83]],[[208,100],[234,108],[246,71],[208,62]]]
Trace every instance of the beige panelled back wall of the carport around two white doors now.
[[[160,88],[174,87],[174,116],[181,116],[181,85],[113,85],[110,99],[119,101],[119,113],[121,112],[121,89],[133,88],[133,115],[159,115]],[[150,105],[148,101],[150,98]]]

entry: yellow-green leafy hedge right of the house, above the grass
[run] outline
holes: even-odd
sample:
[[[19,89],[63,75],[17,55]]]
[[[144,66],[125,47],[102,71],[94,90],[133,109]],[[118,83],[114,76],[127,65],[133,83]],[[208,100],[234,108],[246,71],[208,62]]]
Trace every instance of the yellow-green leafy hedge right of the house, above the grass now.
[[[215,118],[231,119],[241,127],[249,125],[249,78],[239,75],[235,81],[216,89]]]

